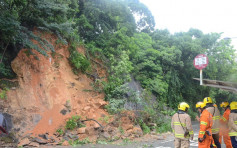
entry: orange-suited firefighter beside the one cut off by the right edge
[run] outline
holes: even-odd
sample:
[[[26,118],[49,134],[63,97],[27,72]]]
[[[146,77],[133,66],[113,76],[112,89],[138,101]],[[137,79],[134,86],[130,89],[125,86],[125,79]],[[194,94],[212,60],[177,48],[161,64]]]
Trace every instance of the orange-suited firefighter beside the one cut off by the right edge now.
[[[229,106],[228,102],[222,102],[220,104],[220,107],[225,110],[223,116],[220,119],[220,123],[221,123],[220,143],[222,142],[222,137],[223,137],[226,148],[232,148],[230,136],[228,135],[228,133],[229,133],[228,122],[229,122],[229,115],[230,115],[230,106]]]

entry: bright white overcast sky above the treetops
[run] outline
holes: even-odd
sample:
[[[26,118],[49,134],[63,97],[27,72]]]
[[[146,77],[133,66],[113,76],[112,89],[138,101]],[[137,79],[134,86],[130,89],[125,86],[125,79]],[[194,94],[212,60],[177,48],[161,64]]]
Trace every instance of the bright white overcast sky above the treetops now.
[[[222,33],[237,49],[237,0],[140,0],[152,12],[157,29],[170,33],[190,28]]]

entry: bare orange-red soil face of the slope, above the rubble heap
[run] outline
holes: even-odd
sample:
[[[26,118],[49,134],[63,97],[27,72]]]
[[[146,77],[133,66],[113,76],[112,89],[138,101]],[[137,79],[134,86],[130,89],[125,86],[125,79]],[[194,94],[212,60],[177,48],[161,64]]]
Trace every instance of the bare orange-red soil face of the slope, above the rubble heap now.
[[[93,90],[93,80],[72,72],[68,46],[56,44],[57,38],[53,35],[43,36],[55,47],[56,54],[48,52],[45,57],[34,51],[35,55],[29,55],[23,49],[11,64],[19,87],[8,91],[4,103],[6,112],[13,116],[14,127],[20,129],[20,136],[26,133],[52,135],[72,115],[96,120],[108,115],[103,109],[107,104],[103,101],[104,94],[88,91]],[[83,54],[84,49],[78,48],[78,51]],[[96,71],[100,77],[106,74],[99,65]],[[60,113],[62,110],[65,115]]]

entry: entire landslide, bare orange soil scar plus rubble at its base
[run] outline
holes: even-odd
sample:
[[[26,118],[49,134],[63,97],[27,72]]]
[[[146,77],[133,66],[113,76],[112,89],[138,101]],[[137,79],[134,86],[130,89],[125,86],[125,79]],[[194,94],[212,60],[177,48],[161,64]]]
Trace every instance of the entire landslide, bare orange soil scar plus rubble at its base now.
[[[44,34],[44,38],[54,46],[55,52],[47,52],[48,56],[43,56],[36,51],[29,54],[27,49],[22,49],[11,63],[17,74],[14,83],[18,84],[10,87],[7,99],[0,100],[1,111],[11,116],[11,131],[19,141],[18,146],[56,145],[63,141],[63,145],[68,145],[72,137],[95,142],[98,138],[116,140],[122,135],[122,138],[143,135],[140,126],[134,126],[134,113],[124,112],[111,117],[104,109],[107,105],[104,93],[94,91],[92,77],[73,73],[67,45],[58,44],[54,35]],[[84,48],[77,50],[85,54]],[[98,77],[106,77],[101,62],[94,61],[93,71]],[[57,135],[57,130],[64,129],[66,122],[75,115],[82,120],[94,119],[102,124],[103,129],[98,130],[101,128],[99,124],[91,120],[84,122],[85,127],[76,131],[65,131],[64,137]]]

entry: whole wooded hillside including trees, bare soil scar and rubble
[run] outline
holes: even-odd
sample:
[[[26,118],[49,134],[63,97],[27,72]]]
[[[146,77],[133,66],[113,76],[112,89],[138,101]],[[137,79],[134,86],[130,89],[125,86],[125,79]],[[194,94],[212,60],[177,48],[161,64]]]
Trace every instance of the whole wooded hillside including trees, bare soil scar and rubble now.
[[[193,118],[204,97],[237,98],[193,80],[205,54],[203,78],[236,82],[231,41],[156,29],[139,0],[3,0],[0,34],[0,112],[19,145],[163,133],[180,102]]]

